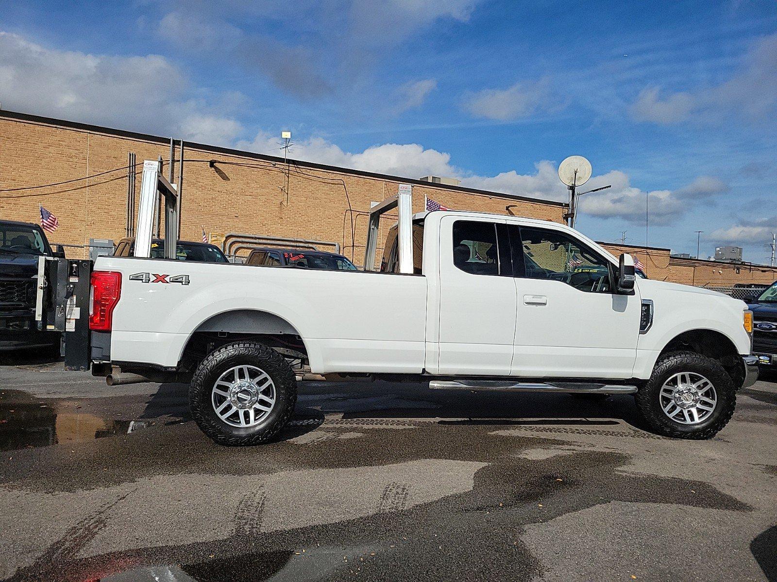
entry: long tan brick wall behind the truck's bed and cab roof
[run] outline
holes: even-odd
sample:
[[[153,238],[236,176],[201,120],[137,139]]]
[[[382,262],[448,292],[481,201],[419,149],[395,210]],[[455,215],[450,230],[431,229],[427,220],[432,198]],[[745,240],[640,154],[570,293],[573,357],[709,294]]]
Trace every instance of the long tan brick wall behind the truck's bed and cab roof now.
[[[120,168],[127,165],[128,152],[137,155],[139,201],[143,160],[160,155],[168,158],[169,144],[0,117],[0,189],[64,182]],[[178,155],[176,151],[176,158]],[[287,171],[282,161],[189,147],[185,159],[191,161],[185,162],[183,172],[182,239],[199,241],[200,227],[204,227],[214,241],[221,241],[229,231],[335,241],[358,264],[364,258],[370,202],[395,195],[402,183],[401,179],[305,166],[291,165]],[[208,166],[211,159],[221,162],[218,171]],[[178,169],[176,164],[176,180]],[[561,206],[462,192],[444,185],[413,185],[414,212],[423,210],[424,194],[456,210],[506,214],[510,205],[517,215],[563,220]],[[90,237],[118,241],[126,232],[127,171],[44,189],[0,192],[0,217],[38,222],[38,203],[59,219],[59,229],[49,237],[52,243],[86,244]],[[351,239],[351,216],[355,241]],[[382,222],[385,232],[389,220]],[[382,233],[379,244],[383,238]],[[83,255],[76,249],[67,252],[68,256]]]

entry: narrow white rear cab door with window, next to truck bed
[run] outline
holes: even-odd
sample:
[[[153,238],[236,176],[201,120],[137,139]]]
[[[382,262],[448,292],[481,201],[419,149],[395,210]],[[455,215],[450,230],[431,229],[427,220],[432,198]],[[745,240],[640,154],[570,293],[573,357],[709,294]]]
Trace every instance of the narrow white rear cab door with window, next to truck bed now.
[[[440,374],[510,374],[516,296],[507,221],[443,217]]]

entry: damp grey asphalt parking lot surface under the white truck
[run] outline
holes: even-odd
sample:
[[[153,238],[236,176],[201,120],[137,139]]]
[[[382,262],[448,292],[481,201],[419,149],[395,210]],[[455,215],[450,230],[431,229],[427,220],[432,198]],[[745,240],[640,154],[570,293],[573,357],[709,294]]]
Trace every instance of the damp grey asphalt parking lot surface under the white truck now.
[[[632,397],[301,383],[268,445],[187,386],[0,366],[0,580],[777,580],[777,377],[709,441]]]

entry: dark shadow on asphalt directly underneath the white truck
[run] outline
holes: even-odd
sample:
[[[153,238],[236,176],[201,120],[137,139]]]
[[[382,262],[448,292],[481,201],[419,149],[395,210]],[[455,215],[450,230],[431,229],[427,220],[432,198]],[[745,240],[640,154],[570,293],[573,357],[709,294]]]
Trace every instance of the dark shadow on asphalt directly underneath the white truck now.
[[[299,397],[290,425],[277,440],[295,438],[324,421],[437,421],[455,425],[525,425],[617,427],[646,430],[630,396],[585,400],[570,394],[494,393],[430,390],[423,383],[382,381],[299,383]],[[146,401],[141,419],[167,418],[166,424],[189,422],[188,385],[165,383]]]

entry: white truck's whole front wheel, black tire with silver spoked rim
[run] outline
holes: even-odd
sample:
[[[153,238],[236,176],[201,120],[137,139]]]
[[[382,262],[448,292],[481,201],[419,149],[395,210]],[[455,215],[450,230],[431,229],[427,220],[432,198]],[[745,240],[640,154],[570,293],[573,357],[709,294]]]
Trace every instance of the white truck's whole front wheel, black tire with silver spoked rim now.
[[[695,352],[661,356],[635,397],[650,428],[674,438],[712,438],[737,405],[737,391],[720,362]]]

